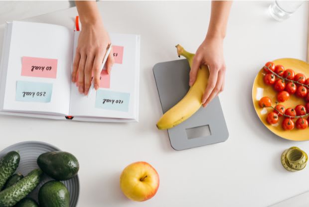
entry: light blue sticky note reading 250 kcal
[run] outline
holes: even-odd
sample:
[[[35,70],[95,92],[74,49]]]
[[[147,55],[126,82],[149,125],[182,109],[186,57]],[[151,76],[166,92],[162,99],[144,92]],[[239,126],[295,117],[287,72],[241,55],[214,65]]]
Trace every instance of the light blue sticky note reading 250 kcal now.
[[[16,101],[50,102],[52,83],[17,81]]]

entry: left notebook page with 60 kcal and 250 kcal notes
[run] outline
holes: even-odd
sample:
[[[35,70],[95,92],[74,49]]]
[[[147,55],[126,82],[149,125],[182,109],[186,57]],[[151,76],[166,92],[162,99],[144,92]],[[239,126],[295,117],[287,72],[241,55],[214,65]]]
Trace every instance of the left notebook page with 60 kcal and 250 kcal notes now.
[[[3,110],[69,114],[73,31],[53,24],[10,24]]]

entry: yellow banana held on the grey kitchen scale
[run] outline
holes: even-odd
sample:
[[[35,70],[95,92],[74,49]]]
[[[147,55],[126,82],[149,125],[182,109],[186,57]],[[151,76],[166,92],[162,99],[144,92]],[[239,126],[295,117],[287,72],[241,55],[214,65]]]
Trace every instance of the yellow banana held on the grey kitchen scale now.
[[[190,67],[195,54],[187,52],[179,44],[176,45],[178,57],[184,56]],[[158,129],[169,129],[192,116],[202,105],[202,96],[208,83],[209,69],[202,65],[197,72],[194,84],[187,94],[172,108],[166,111],[156,124]]]

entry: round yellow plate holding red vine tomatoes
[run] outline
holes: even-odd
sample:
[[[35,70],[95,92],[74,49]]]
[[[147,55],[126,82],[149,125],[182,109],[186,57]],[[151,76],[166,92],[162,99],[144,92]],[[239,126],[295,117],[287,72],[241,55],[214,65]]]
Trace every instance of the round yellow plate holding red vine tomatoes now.
[[[295,74],[303,73],[306,78],[309,77],[309,64],[302,60],[294,59],[294,58],[282,58],[273,61],[275,65],[283,65],[285,69],[293,69]],[[266,121],[268,112],[273,111],[272,108],[263,108],[259,106],[260,98],[264,96],[268,96],[272,100],[272,106],[275,106],[275,102],[277,101],[278,92],[274,90],[273,86],[266,85],[264,83],[264,69],[262,68],[258,75],[255,77],[253,87],[252,87],[252,100],[255,111],[262,121],[262,123],[273,133],[278,135],[279,137],[293,140],[293,141],[305,141],[309,140],[309,128],[307,129],[297,129],[296,127],[291,131],[285,131],[282,128],[283,117],[279,117],[279,122],[277,126],[271,125]],[[296,97],[296,95],[290,95],[290,99],[280,103],[285,106],[285,108],[295,108],[298,104],[305,105],[306,102],[303,98]],[[308,112],[307,112],[308,113]],[[294,124],[296,119],[293,119]]]

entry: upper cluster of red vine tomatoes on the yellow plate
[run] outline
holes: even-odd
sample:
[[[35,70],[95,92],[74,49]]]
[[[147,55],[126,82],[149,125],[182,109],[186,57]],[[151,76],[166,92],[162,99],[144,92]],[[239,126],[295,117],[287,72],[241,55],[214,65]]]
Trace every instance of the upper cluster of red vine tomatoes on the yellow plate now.
[[[279,102],[285,102],[291,94],[305,98],[309,102],[309,78],[306,79],[302,73],[295,74],[292,69],[285,70],[282,65],[275,65],[273,62],[267,62],[265,66],[264,70],[267,74],[264,76],[264,82],[267,85],[273,85],[274,89],[279,92],[277,95]]]

